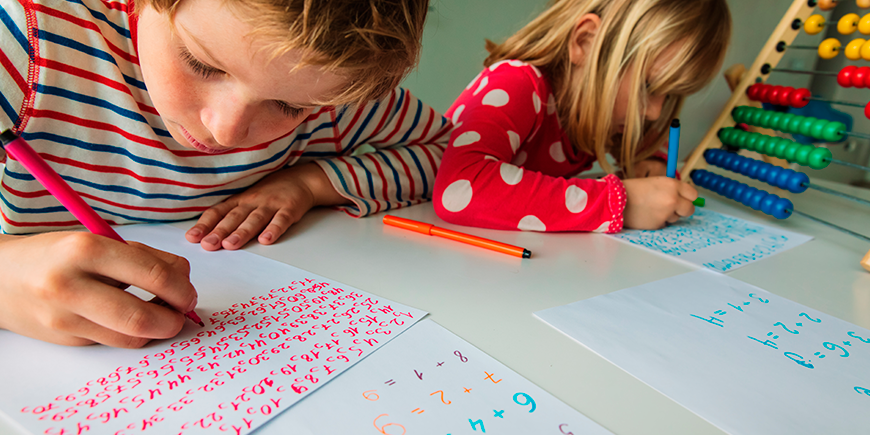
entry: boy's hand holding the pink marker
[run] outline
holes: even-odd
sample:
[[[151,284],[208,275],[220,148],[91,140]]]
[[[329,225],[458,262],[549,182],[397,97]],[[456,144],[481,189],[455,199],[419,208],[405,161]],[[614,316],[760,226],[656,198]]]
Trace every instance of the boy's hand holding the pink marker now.
[[[184,258],[86,232],[2,236],[0,276],[0,328],[63,345],[137,348],[174,337],[197,301]]]

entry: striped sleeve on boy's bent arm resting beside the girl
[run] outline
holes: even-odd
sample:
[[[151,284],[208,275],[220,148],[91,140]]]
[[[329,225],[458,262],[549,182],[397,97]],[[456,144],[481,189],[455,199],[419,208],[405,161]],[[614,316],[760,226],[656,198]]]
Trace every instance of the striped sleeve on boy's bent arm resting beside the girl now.
[[[435,173],[450,139],[450,121],[397,88],[381,100],[349,107],[337,121],[341,157],[315,160],[356,217],[432,199]],[[351,155],[362,145],[375,151]]]

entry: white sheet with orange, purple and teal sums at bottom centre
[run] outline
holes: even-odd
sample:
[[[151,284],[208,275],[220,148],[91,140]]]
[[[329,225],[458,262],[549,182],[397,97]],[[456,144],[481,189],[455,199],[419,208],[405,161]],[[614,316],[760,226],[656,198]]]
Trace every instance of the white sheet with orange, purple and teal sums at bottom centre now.
[[[294,435],[611,433],[431,320],[257,434],[289,427]]]

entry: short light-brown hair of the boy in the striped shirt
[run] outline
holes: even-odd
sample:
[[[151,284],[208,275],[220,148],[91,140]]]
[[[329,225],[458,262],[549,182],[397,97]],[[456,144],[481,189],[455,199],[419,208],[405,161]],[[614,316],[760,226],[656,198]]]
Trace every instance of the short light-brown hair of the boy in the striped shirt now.
[[[417,64],[428,0],[222,0],[265,41],[272,58],[298,50],[297,68],[314,65],[345,77],[329,101],[351,104],[386,95]],[[182,0],[138,0],[173,17]]]

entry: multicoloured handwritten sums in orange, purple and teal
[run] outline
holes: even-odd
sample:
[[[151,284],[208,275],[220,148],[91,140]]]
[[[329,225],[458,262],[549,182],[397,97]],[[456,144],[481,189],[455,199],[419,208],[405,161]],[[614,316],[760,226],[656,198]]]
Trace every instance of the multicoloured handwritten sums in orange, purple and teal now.
[[[430,367],[430,368],[437,370],[439,367],[444,366],[445,363],[447,363],[447,364],[450,364],[450,363],[464,364],[464,363],[468,362],[468,357],[463,355],[462,352],[459,350],[454,351],[453,356],[455,358],[449,358],[447,361],[434,362],[434,366]],[[417,379],[422,381],[423,376],[424,376],[424,372],[422,370],[414,369],[414,375]],[[502,382],[502,379],[500,379],[498,376],[496,376],[495,373],[490,373],[488,371],[484,371],[480,376],[481,376],[482,380],[491,382],[491,384],[489,382],[485,382],[485,384],[495,385],[495,384]],[[389,379],[386,382],[384,382],[384,385],[386,385],[386,387],[382,388],[380,394],[389,393],[389,387],[395,385],[396,383],[397,383],[397,381],[394,379]],[[465,386],[465,387],[462,387],[459,389],[447,388],[448,391],[435,390],[429,394],[429,397],[431,398],[427,401],[427,403],[429,403],[429,405],[424,405],[424,406],[438,407],[438,406],[451,406],[452,405],[452,406],[462,407],[462,402],[463,402],[462,399],[464,397],[469,397],[469,396],[465,396],[465,395],[474,394],[475,390],[478,388],[480,388],[480,387],[469,388],[468,386]],[[488,394],[488,392],[483,393],[483,394]],[[376,402],[381,397],[378,394],[378,390],[364,391],[362,393],[362,396],[365,400],[368,400],[371,402]],[[524,392],[518,391],[518,392],[514,393],[512,396],[512,399],[513,399],[513,403],[517,405],[516,407],[514,407],[512,409],[511,408],[507,408],[507,409],[495,408],[492,410],[492,415],[487,415],[487,416],[473,415],[473,416],[471,416],[471,418],[468,418],[468,423],[467,423],[468,426],[466,426],[466,428],[468,428],[470,426],[471,430],[473,430],[474,432],[487,433],[487,426],[488,425],[489,426],[496,425],[496,427],[499,427],[499,426],[497,426],[498,422],[509,422],[511,417],[517,415],[517,413],[529,413],[529,414],[531,414],[531,413],[534,413],[538,409],[538,405],[535,402],[535,399],[532,398],[531,395],[526,394]],[[413,406],[413,405],[409,405],[408,408],[410,408],[411,406]],[[426,412],[426,409],[420,408],[420,407],[416,407],[410,411],[411,414],[415,414],[415,415],[421,415],[424,412]],[[411,418],[413,418],[413,417],[411,417]],[[397,419],[390,418],[389,414],[386,414],[386,413],[378,414],[378,416],[375,417],[373,424],[374,424],[375,429],[377,429],[378,433],[381,433],[383,435],[404,435],[406,433],[405,426],[402,425],[401,423],[394,421],[394,420],[397,420]],[[398,418],[398,420],[402,420],[402,418]],[[573,435],[573,432],[570,431],[570,428],[568,427],[567,423],[555,424],[552,426],[553,426],[552,427],[553,429],[557,429],[558,431],[551,431],[550,433],[563,434],[563,435]],[[495,429],[495,432],[492,432],[492,428],[490,428],[490,429],[491,429],[490,433],[506,433],[506,432],[504,432],[504,426],[501,426],[501,429],[502,429],[501,431],[499,431],[498,429]],[[463,431],[463,432],[465,432],[465,431]],[[510,433],[510,432],[507,432],[507,433]],[[447,433],[446,435],[452,435],[452,434]]]

